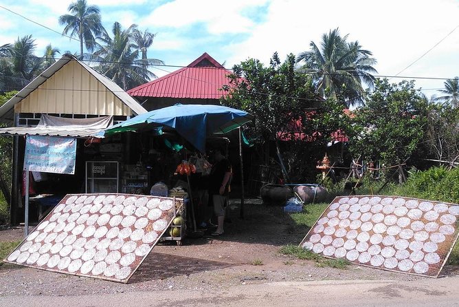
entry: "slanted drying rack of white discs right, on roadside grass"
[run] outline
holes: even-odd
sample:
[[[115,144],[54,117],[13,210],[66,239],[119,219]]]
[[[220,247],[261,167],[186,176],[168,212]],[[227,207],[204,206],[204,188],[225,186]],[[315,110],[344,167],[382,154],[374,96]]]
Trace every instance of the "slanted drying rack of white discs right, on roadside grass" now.
[[[413,198],[337,197],[300,246],[363,266],[438,277],[458,239],[459,206]]]

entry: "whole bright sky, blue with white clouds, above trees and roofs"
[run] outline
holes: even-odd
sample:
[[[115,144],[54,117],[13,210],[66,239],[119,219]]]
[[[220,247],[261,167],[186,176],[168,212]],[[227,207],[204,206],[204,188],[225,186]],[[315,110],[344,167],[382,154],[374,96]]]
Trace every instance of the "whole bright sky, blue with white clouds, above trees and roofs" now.
[[[77,41],[62,36],[58,17],[72,1],[0,0],[0,45],[32,34],[36,55],[51,43],[77,52]],[[438,95],[446,78],[459,76],[459,0],[87,0],[100,8],[111,32],[115,21],[156,34],[148,57],[167,66],[164,76],[207,52],[227,68],[247,59],[269,63],[320,44],[322,34],[339,28],[377,59],[377,76],[391,83],[415,79],[428,96]],[[23,17],[41,25],[27,21]],[[49,30],[51,29],[51,30]],[[54,31],[53,31],[54,30]],[[57,33],[56,33],[57,32]]]

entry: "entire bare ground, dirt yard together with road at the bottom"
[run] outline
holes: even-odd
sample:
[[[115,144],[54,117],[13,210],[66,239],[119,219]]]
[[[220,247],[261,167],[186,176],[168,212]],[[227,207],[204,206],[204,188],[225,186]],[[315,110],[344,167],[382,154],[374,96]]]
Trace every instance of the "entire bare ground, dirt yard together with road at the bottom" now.
[[[454,306],[459,301],[456,266],[447,266],[440,279],[355,265],[318,267],[279,253],[307,231],[280,208],[253,203],[244,220],[237,208],[229,216],[222,237],[155,246],[128,284],[0,266],[0,306],[387,306],[388,300],[393,306],[408,301]],[[3,230],[0,240],[22,235],[23,229]]]

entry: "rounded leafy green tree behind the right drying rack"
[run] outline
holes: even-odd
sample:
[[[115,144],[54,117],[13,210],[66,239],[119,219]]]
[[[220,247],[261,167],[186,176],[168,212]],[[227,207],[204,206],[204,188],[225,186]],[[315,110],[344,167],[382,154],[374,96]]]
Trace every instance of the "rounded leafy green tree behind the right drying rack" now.
[[[379,160],[386,166],[410,158],[424,137],[427,106],[414,81],[390,84],[387,79],[378,79],[366,106],[354,112],[352,155]]]

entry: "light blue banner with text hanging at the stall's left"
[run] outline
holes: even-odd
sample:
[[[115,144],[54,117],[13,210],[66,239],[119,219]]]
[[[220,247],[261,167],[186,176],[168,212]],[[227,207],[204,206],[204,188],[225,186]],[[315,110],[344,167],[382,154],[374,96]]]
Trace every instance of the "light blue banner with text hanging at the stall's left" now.
[[[24,170],[75,173],[76,138],[26,136]]]

